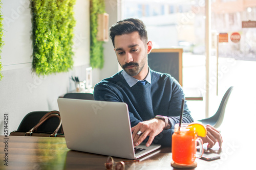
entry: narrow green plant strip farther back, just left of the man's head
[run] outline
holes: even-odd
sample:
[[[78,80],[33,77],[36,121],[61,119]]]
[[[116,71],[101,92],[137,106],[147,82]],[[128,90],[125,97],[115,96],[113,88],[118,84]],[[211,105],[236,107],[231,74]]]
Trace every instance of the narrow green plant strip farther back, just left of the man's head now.
[[[103,41],[97,40],[98,14],[104,12],[104,0],[90,0],[90,64],[93,68],[102,68],[104,64]]]

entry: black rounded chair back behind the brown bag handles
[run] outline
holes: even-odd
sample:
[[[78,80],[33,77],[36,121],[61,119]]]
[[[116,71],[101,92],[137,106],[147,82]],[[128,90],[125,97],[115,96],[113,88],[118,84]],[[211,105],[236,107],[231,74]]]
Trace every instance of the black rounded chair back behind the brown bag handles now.
[[[49,111],[32,111],[28,113],[20,122],[17,131],[28,132],[30,131]],[[51,117],[46,120],[41,126],[38,127],[37,132],[53,133],[59,125],[58,117]],[[62,126],[59,128],[58,133],[61,133]]]

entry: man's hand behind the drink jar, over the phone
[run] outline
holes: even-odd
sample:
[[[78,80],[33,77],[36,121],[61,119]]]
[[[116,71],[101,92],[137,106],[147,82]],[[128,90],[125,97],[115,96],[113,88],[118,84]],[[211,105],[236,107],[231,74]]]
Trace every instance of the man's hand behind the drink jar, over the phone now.
[[[208,143],[207,148],[212,148],[215,143],[219,142],[219,147],[222,145],[222,136],[220,132],[210,125],[206,125],[207,135],[202,137],[203,143]]]

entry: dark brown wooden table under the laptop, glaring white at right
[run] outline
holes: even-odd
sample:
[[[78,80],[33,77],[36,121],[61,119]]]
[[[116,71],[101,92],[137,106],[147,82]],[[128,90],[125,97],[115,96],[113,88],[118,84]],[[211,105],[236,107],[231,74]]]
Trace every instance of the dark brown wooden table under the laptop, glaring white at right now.
[[[229,138],[230,140],[225,140],[226,137],[224,137],[221,159],[210,162],[197,159],[198,166],[195,169],[251,169],[254,167],[255,156],[250,157],[250,153],[255,149],[248,144],[240,143],[236,138],[233,136]],[[0,136],[0,140],[0,169],[105,169],[104,162],[107,156],[71,151],[66,146],[65,138]],[[171,151],[170,147],[163,147],[148,158],[142,157],[145,159],[141,162],[126,163],[125,169],[175,169],[170,166]],[[4,165],[5,160],[8,160],[8,166]],[[114,157],[114,161],[123,160],[126,159]]]

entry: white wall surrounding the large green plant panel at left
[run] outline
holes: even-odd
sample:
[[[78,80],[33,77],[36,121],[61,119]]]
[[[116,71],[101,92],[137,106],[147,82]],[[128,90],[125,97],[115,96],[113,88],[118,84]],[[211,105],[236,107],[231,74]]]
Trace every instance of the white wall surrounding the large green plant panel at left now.
[[[4,114],[9,116],[10,133],[31,111],[58,110],[58,96],[74,89],[70,77],[86,79],[86,68],[90,66],[89,0],[76,0],[74,7],[74,68],[45,77],[38,77],[31,69],[30,0],[2,0],[2,3],[5,45],[1,54],[4,77],[0,81],[0,135],[4,134]]]

